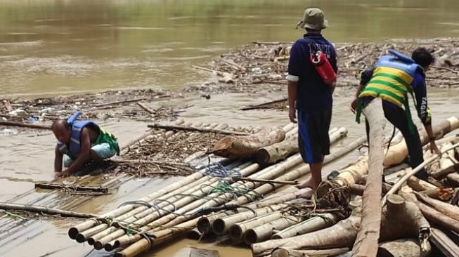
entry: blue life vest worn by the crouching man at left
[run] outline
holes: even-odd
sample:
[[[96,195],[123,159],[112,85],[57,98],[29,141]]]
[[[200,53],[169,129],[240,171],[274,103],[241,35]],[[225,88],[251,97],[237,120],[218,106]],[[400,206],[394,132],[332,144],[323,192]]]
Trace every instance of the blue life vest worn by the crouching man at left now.
[[[82,150],[81,147],[81,137],[82,137],[82,129],[89,124],[98,127],[97,124],[93,123],[93,121],[75,121],[69,124],[71,133],[70,133],[70,142],[68,144],[64,144],[58,142],[58,150],[63,154],[67,154],[72,159],[77,159],[79,153]],[[100,128],[99,128],[100,129]]]

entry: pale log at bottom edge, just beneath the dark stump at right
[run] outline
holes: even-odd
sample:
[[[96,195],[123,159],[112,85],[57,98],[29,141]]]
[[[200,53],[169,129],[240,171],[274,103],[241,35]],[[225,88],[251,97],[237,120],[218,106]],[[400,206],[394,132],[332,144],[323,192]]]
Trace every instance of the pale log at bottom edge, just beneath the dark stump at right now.
[[[381,243],[377,249],[377,256],[403,256],[403,257],[420,257],[429,256],[430,247],[427,251],[421,251],[418,239],[398,239],[394,241]]]

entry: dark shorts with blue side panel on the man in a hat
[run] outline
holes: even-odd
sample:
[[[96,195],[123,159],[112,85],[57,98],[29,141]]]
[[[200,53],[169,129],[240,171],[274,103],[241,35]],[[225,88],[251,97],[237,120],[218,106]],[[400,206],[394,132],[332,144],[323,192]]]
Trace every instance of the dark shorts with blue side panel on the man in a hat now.
[[[322,156],[330,154],[330,122],[332,110],[320,112],[298,111],[298,146],[303,161],[308,164],[322,162]]]

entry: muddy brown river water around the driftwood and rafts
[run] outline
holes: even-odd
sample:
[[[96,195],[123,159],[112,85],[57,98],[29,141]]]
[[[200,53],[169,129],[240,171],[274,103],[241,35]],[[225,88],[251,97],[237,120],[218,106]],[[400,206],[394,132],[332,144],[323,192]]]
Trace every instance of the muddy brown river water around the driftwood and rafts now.
[[[250,41],[294,41],[293,29],[305,3],[321,6],[330,21],[325,35],[332,41],[377,41],[388,38],[458,37],[459,2],[420,0],[329,1],[25,1],[0,3],[0,91],[3,95],[50,95],[108,88],[179,89],[201,84],[209,74],[190,65],[205,65],[220,53]],[[354,90],[335,94],[332,126],[346,126],[346,145],[363,135],[348,103]],[[238,110],[241,105],[278,99],[285,92],[192,96],[180,100],[194,106],[181,114],[190,121],[233,126],[287,124],[285,112]],[[177,103],[170,101],[168,105]],[[459,91],[429,88],[434,120],[457,115]],[[413,110],[413,108],[412,108]],[[140,135],[145,124],[102,124],[121,143]],[[5,132],[0,129],[0,133]],[[41,136],[37,136],[40,133]],[[49,133],[0,134],[0,202],[53,178],[54,138]],[[337,169],[357,152],[330,164]],[[103,213],[137,199],[178,178],[136,179],[114,194],[99,197],[77,211]],[[30,199],[29,199],[30,200]],[[85,256],[92,247],[77,244],[66,233],[70,222],[33,223],[18,244],[0,247],[0,256]],[[221,256],[250,256],[250,251],[222,244],[182,240],[145,256],[188,256],[188,246],[212,248]],[[110,256],[103,251],[89,256]]]

